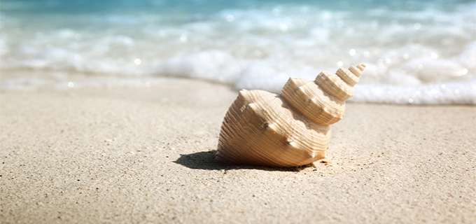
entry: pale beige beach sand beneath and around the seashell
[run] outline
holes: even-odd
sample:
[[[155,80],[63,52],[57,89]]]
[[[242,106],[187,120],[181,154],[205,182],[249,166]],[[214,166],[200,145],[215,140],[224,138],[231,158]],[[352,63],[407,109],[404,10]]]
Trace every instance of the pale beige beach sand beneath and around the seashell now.
[[[327,163],[283,169],[213,162],[236,96],[0,92],[0,223],[475,223],[475,106],[347,104]]]

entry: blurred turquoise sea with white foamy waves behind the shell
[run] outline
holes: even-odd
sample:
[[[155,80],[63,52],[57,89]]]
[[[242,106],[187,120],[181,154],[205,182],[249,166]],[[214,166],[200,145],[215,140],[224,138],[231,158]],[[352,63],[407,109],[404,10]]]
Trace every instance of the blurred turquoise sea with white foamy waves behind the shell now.
[[[366,64],[353,102],[476,104],[476,1],[2,0],[0,90],[153,86],[279,92]]]

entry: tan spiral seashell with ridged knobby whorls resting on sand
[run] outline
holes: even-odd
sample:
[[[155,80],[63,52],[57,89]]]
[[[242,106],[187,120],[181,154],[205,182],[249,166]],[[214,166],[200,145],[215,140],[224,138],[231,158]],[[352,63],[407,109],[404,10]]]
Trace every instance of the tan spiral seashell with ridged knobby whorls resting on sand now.
[[[241,90],[221,126],[215,160],[235,165],[297,167],[325,158],[330,126],[344,117],[364,64],[289,78],[276,95]]]

